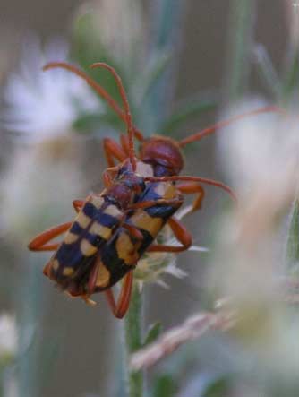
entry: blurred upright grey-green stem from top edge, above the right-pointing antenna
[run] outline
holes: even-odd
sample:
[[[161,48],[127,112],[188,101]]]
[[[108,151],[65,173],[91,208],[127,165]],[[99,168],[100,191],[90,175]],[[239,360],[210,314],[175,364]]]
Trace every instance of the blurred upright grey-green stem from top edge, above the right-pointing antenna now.
[[[235,102],[246,91],[250,73],[255,0],[231,0],[226,92]]]

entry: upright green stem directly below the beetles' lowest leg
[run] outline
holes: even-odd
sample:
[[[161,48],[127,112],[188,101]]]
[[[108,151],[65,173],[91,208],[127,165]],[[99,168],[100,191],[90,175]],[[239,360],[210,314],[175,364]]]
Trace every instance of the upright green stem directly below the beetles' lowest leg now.
[[[129,397],[143,396],[143,372],[132,371],[129,358],[132,353],[141,348],[142,333],[142,297],[137,286],[133,287],[130,309],[124,318],[124,341],[126,347],[125,371]]]

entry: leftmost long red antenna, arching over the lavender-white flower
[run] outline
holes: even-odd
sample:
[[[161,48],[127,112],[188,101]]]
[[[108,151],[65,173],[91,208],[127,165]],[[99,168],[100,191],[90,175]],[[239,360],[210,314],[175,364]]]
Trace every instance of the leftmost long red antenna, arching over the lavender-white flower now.
[[[87,73],[84,73],[81,71],[81,69],[77,68],[76,66],[69,65],[65,62],[49,62],[47,65],[43,67],[44,71],[47,71],[49,69],[55,69],[55,68],[61,68],[65,69],[71,73],[77,74],[81,79],[85,80],[91,88],[93,88],[96,92],[98,92],[98,95],[107,101],[107,104],[112,108],[117,116],[121,118],[124,123],[127,122],[127,117],[124,113],[124,111],[118,106],[118,104],[115,102],[115,99],[111,97],[111,95],[108,94],[108,92],[100,85],[98,82],[95,82],[90,78],[90,76]],[[140,141],[143,140],[143,135],[141,134],[141,131],[139,131],[137,128],[133,126],[133,133],[135,134],[136,138]]]

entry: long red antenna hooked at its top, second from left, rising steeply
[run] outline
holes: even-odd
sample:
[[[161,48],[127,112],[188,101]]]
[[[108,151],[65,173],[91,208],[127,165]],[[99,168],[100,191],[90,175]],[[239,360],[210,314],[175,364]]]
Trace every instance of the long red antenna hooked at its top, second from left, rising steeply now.
[[[125,119],[126,119],[126,125],[127,125],[127,132],[128,132],[128,136],[129,136],[129,158],[132,163],[132,169],[133,169],[133,171],[135,171],[136,170],[136,158],[135,158],[134,141],[133,141],[134,129],[133,129],[133,125],[132,125],[132,114],[131,114],[131,110],[130,110],[129,101],[128,101],[127,95],[125,93],[125,90],[124,90],[124,84],[122,82],[122,79],[120,78],[118,73],[116,73],[115,69],[112,66],[107,65],[104,62],[97,62],[96,64],[90,65],[90,67],[91,67],[91,69],[94,69],[96,67],[102,67],[102,68],[106,69],[108,72],[110,72],[113,75],[113,77],[115,78],[115,82],[118,86],[121,98],[124,103]]]

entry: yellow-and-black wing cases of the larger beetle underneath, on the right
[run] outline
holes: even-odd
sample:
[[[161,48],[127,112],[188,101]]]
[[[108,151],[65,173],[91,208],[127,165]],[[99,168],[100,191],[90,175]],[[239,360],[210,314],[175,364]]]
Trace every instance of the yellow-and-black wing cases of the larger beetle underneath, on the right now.
[[[121,226],[107,244],[101,247],[100,258],[91,272],[87,286],[89,294],[109,289],[136,267],[167,220],[182,205],[183,196],[176,190],[174,183],[148,183],[143,193],[138,195],[136,204],[149,201],[155,201],[156,204],[134,209],[126,217],[126,223],[137,229],[141,237],[133,236],[130,230]],[[190,238],[184,240],[184,249],[190,243]]]

